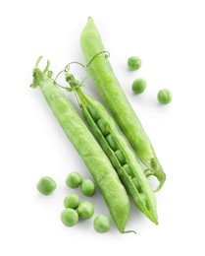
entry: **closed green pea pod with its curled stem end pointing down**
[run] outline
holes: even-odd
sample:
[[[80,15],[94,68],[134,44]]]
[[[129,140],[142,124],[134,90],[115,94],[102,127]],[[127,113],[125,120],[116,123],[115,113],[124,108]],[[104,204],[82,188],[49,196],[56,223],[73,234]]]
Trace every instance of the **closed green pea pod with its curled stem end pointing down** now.
[[[98,54],[104,51],[104,46],[90,17],[81,33],[80,44],[85,61],[89,62],[88,73],[119,127],[128,138],[130,146],[147,167],[146,176],[154,175],[158,178],[160,183],[154,190],[158,191],[166,180],[166,174],[139,119],[128,102],[128,98],[125,96],[109,60],[103,54]],[[93,56],[96,58],[90,62]]]

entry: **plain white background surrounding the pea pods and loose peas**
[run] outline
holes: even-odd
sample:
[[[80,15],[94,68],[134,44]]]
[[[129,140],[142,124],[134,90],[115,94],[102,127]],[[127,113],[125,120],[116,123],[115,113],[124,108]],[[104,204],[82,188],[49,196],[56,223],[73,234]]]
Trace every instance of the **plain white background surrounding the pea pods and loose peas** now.
[[[205,8],[204,1],[1,1],[0,4],[0,255],[204,255],[205,160]],[[159,225],[132,207],[127,229],[112,224],[96,233],[92,220],[75,227],[60,221],[64,181],[77,170],[90,177],[40,90],[29,88],[39,55],[57,74],[70,61],[83,62],[79,35],[92,16],[123,89],[150,137],[167,173],[156,194]],[[127,59],[142,59],[128,72]],[[77,67],[77,79],[85,73]],[[133,79],[147,80],[134,96]],[[62,83],[63,84],[63,83]],[[162,88],[173,93],[170,105],[157,102]],[[91,80],[85,90],[97,94]],[[75,97],[69,95],[75,103]],[[50,197],[35,184],[52,176],[58,188]],[[75,191],[80,195],[79,190]],[[80,195],[81,196],[81,195]],[[81,197],[84,199],[83,197]],[[90,199],[97,214],[108,214],[97,191]]]

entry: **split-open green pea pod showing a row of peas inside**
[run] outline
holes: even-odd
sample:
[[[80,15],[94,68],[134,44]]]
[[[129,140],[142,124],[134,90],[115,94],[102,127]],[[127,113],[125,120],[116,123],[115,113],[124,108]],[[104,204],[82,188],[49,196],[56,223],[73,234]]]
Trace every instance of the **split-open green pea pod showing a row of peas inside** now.
[[[72,74],[66,76],[66,81],[76,90],[84,120],[111,161],[134,205],[157,224],[154,192],[113,118],[100,102],[81,91],[80,82]]]

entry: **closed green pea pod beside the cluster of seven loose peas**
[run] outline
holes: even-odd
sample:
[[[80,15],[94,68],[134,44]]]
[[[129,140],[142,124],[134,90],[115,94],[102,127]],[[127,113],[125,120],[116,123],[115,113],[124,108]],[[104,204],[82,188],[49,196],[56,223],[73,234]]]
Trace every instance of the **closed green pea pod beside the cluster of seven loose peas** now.
[[[40,60],[40,59],[39,59]],[[67,137],[86,164],[98,185],[110,214],[120,232],[124,232],[129,216],[129,200],[116,171],[95,141],[68,98],[48,77],[48,66],[42,72],[38,63],[33,70],[32,88],[40,87],[43,96],[63,127]]]

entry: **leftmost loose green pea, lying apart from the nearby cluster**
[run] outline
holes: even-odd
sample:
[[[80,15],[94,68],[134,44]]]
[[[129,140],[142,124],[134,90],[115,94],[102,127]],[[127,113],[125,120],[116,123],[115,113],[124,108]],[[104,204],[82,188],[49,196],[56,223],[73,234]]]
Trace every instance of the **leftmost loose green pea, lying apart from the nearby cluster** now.
[[[56,189],[56,182],[51,177],[44,176],[37,182],[36,188],[41,194],[48,196]]]

